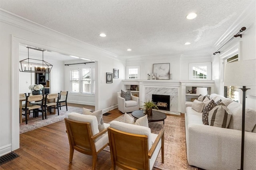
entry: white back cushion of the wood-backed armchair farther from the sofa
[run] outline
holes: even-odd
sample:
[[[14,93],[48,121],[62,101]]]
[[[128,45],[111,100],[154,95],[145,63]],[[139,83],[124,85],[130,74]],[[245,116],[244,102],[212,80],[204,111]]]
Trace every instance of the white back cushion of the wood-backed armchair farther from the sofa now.
[[[80,113],[72,112],[68,114],[68,119],[71,119],[73,121],[79,121],[79,122],[90,122],[92,126],[92,135],[97,134],[99,131],[98,129],[98,121],[96,116],[93,115],[82,115]]]

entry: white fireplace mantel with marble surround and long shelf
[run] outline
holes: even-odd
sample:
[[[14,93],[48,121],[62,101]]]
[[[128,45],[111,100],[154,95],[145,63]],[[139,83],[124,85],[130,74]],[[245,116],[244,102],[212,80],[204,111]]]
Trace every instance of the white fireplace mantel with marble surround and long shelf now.
[[[210,87],[210,93],[214,93],[214,81],[191,81],[191,80],[122,80],[122,89],[130,89],[130,85],[138,85],[137,93],[140,98],[140,107],[143,101],[150,98],[152,91],[154,94],[158,91],[160,93],[169,93],[173,98],[172,111],[185,112],[186,89],[188,87]],[[161,95],[161,94],[160,94]],[[174,109],[174,110],[173,110]]]

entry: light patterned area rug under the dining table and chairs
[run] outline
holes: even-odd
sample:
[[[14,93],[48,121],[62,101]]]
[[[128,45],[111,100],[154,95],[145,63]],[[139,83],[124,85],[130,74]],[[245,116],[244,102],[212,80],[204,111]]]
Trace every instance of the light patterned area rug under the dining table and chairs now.
[[[47,115],[47,119],[44,119],[44,120],[42,120],[42,113],[39,113],[39,116],[36,118],[33,118],[33,113],[32,113],[30,114],[30,118],[28,119],[27,125],[25,121],[22,121],[22,124],[20,124],[20,134],[24,132],[28,132],[30,130],[34,130],[36,128],[50,125],[52,123],[63,121],[64,118],[68,117],[68,114],[71,112],[83,113],[83,110],[80,107],[68,106],[68,111],[66,111],[66,108],[63,108],[62,110],[60,110],[60,115],[58,115],[58,112],[56,111],[55,115],[49,114]]]

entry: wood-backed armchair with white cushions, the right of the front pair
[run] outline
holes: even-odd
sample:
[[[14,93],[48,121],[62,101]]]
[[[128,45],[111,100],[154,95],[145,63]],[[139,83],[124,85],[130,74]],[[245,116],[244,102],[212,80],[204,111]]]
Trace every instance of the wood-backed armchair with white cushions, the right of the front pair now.
[[[164,129],[157,135],[148,127],[112,121],[108,139],[112,170],[116,166],[124,170],[152,170],[160,149],[164,163]]]

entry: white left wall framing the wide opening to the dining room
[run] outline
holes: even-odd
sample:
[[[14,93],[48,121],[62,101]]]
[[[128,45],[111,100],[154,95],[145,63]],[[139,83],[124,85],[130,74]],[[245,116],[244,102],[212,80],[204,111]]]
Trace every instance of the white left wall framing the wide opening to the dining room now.
[[[124,60],[2,10],[0,11],[0,37],[0,155],[19,148],[19,43],[78,57],[86,56],[88,59],[98,61],[96,109],[105,109],[110,103],[117,103],[112,95],[121,89],[120,81],[124,77],[125,69]],[[120,79],[114,79],[113,83],[106,84],[106,72],[113,72],[113,68],[120,70]],[[62,87],[55,87],[55,85],[63,82],[63,72],[64,69],[52,70],[53,74],[59,75],[52,80],[52,93],[62,90]],[[99,83],[100,81],[102,83]]]

